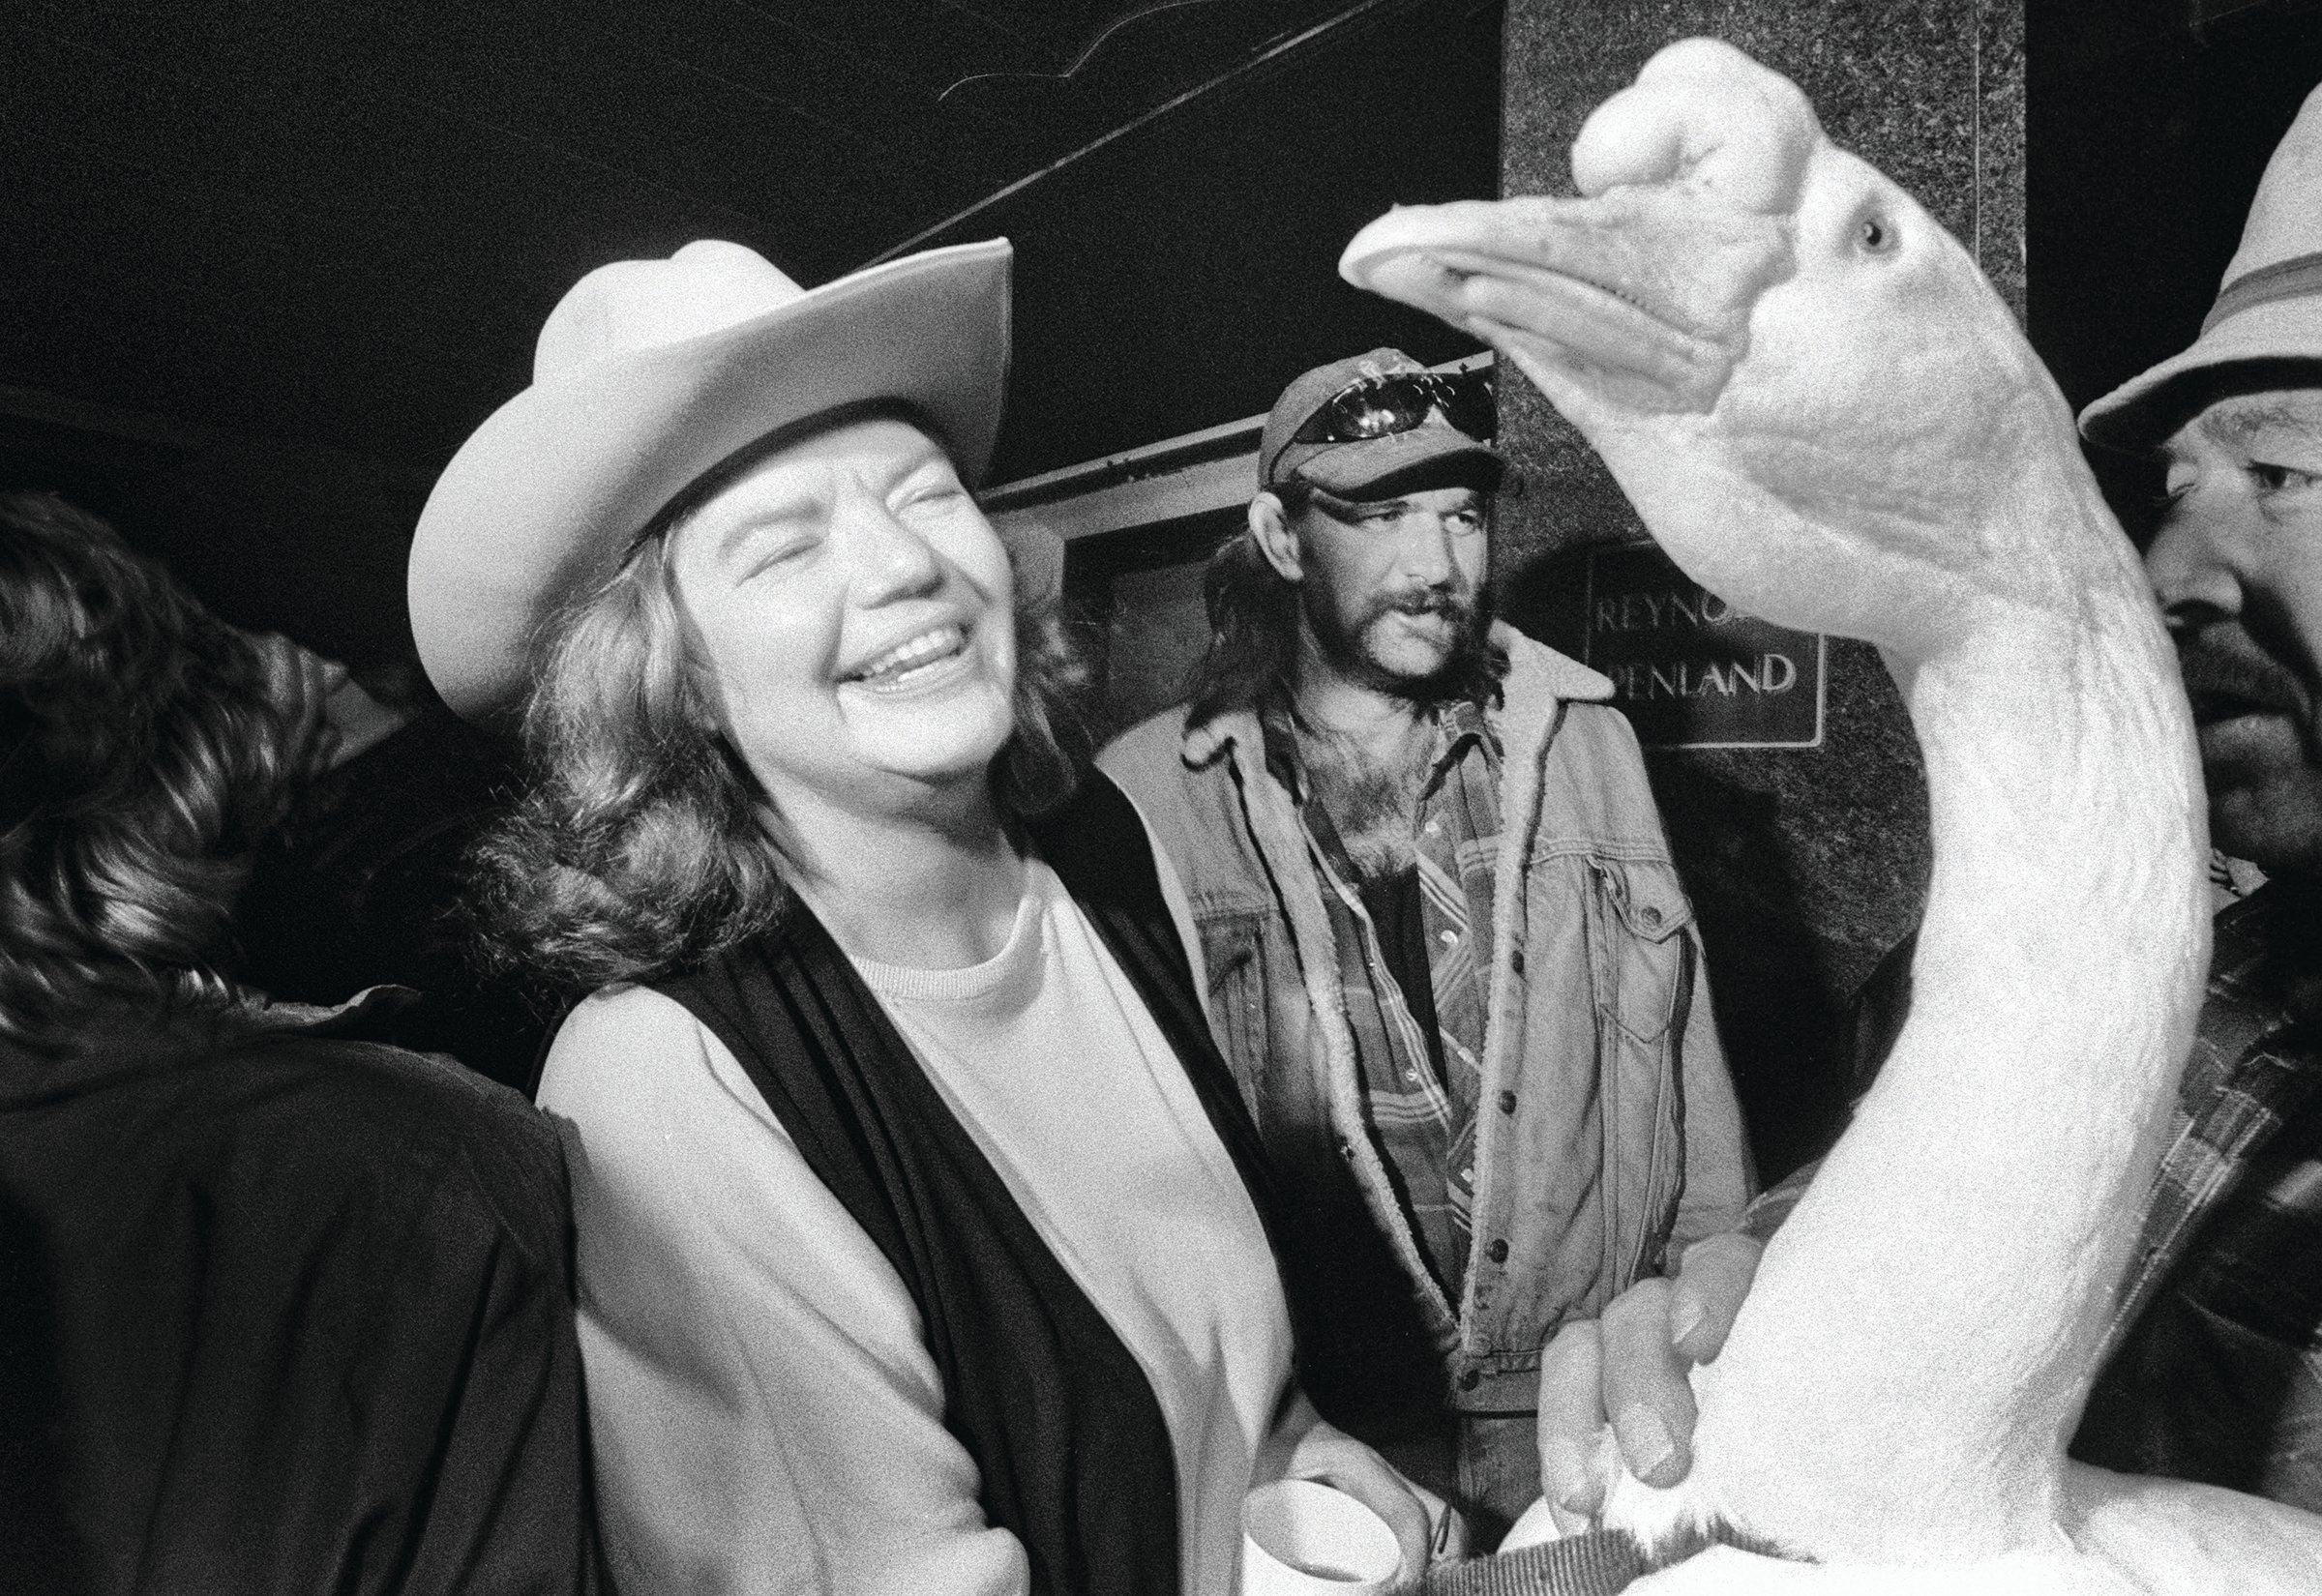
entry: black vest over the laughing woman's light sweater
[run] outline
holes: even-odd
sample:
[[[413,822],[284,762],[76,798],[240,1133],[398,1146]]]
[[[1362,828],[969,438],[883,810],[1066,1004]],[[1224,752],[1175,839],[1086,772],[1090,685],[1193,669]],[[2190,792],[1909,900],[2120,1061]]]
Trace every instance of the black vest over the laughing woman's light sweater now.
[[[1210,1039],[1135,810],[1091,772],[1029,830],[1177,1051],[1277,1236],[1259,1137]],[[985,1519],[1024,1545],[1031,1589],[1180,1596],[1177,1466],[1145,1371],[822,923],[794,905],[778,928],[655,991],[731,1049],[903,1276],[943,1376],[945,1429],[975,1459]]]

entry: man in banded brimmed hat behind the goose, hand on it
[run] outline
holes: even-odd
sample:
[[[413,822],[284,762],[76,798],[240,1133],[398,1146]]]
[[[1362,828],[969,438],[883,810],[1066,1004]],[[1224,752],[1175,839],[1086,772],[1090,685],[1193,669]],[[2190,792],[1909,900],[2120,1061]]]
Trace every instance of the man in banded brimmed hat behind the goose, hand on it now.
[[[2178,1120],[2071,1450],[2322,1512],[2322,88],[2266,165],[2201,334],[2081,431],[2166,466],[2146,575],[2192,696],[2211,840],[2269,879],[2218,916]],[[1751,1246],[1688,1269],[1681,1315],[1639,1292],[1549,1352],[1553,1499],[1600,1499],[1605,1413],[1651,1410],[1676,1436],[1656,1468],[1623,1417],[1632,1471],[1686,1473],[1683,1364],[1718,1352]]]

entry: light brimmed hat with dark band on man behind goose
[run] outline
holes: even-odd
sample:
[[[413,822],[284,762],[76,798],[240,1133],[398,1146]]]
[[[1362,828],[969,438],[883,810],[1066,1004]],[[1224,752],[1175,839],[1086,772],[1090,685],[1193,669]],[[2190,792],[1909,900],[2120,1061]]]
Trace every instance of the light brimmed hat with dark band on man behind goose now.
[[[2322,88],[2306,95],[2266,162],[2201,336],[2081,411],[2081,431],[2148,448],[2183,427],[2204,394],[2215,397],[2187,378],[2278,360],[2322,362]]]

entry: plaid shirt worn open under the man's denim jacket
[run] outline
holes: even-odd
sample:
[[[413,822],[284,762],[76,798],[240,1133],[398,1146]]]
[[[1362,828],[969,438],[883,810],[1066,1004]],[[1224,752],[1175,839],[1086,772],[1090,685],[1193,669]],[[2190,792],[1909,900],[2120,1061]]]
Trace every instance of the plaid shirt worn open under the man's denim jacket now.
[[[1435,1285],[1458,1304],[1472,1246],[1474,1111],[1491,1000],[1498,740],[1479,705],[1437,710],[1414,863],[1400,879],[1365,882],[1328,812],[1310,800],[1286,714],[1277,708],[1261,721],[1268,770],[1298,803],[1307,851],[1328,886],[1324,907],[1370,1139]]]

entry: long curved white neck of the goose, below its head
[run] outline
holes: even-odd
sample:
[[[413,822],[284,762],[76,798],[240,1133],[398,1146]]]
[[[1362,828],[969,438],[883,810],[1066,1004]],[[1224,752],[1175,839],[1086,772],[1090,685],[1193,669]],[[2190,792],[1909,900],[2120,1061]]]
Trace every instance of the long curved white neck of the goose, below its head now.
[[[2199,1004],[2204,812],[2132,580],[1890,663],[1934,828],[1911,1016],[1709,1371],[1702,1454],[1760,1533],[1946,1561],[2053,1533]]]

